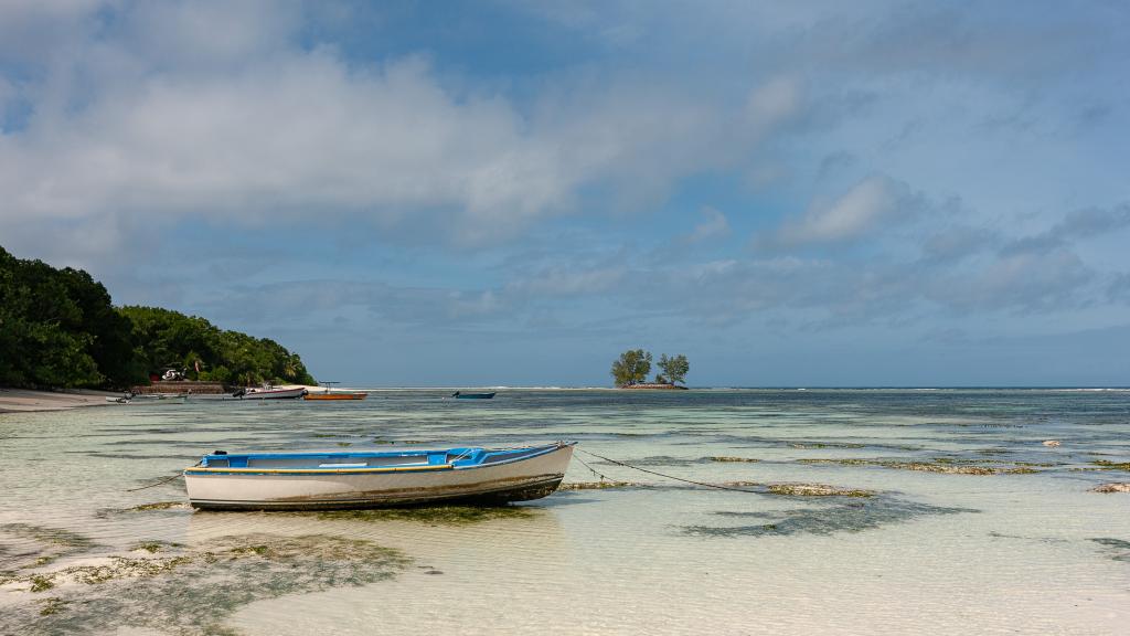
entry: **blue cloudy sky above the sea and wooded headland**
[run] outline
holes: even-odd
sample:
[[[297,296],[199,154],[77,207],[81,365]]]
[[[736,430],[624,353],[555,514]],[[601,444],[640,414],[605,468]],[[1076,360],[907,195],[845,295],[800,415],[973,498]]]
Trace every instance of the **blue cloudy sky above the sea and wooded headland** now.
[[[353,386],[1130,385],[1121,0],[0,1],[0,246]]]

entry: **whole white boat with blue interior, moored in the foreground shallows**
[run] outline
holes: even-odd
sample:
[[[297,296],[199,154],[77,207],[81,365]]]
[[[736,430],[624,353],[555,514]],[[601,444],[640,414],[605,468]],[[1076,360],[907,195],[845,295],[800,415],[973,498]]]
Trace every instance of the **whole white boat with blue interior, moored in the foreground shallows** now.
[[[575,442],[385,453],[225,453],[184,470],[189,502],[217,510],[381,508],[548,496]]]

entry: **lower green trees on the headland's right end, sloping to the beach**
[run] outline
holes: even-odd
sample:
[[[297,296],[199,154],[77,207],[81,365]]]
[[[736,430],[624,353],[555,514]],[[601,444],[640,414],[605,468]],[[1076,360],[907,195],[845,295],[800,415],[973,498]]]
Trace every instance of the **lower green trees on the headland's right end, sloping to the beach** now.
[[[150,372],[172,368],[190,380],[245,386],[315,384],[302,359],[272,340],[227,332],[168,309],[123,307],[119,311],[132,321],[134,351]]]

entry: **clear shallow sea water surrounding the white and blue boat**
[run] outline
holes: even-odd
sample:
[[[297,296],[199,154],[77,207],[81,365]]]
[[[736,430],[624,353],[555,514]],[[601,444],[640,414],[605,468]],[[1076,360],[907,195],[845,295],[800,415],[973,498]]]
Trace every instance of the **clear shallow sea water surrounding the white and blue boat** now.
[[[1130,481],[1130,392],[444,395],[0,415],[0,634],[1130,634],[1130,495],[1090,491]],[[212,449],[557,439],[748,492],[581,453],[628,485],[479,515],[128,491]],[[872,496],[768,489],[798,482]]]

